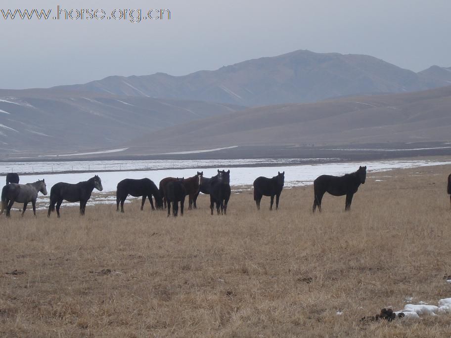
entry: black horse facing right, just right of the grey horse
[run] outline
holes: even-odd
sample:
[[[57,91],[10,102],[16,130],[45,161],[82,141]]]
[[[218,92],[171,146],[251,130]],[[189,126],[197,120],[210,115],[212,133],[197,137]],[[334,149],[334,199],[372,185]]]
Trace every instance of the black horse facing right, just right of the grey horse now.
[[[77,184],[71,184],[66,182],[59,182],[52,186],[50,189],[50,205],[48,206],[47,217],[50,217],[50,211],[55,211],[59,217],[59,207],[63,200],[68,202],[80,201],[80,214],[85,214],[86,203],[91,197],[93,189],[102,191],[102,181],[99,176],[95,175],[87,181],[78,182]]]

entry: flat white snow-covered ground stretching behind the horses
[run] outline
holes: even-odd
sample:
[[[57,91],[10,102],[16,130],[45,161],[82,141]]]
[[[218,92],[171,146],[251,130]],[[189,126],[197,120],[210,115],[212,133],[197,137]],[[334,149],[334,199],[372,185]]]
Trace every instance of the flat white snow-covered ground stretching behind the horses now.
[[[251,161],[251,160],[246,160]],[[276,161],[276,160],[272,160]],[[111,161],[108,161],[111,162]],[[132,161],[128,161],[132,162]],[[152,161],[152,162],[166,162],[167,161]],[[115,203],[115,191],[116,186],[119,181],[124,178],[143,178],[148,177],[155,182],[158,186],[161,179],[168,176],[173,177],[190,177],[196,174],[197,167],[196,163],[198,161],[180,161],[186,162],[189,169],[154,169],[154,170],[144,170],[144,171],[105,171],[99,173],[102,179],[103,192],[101,194],[96,194],[95,198],[90,201],[91,204],[96,203]],[[201,162],[201,161],[199,161]],[[206,161],[208,162],[208,161]],[[213,161],[210,161],[213,162]],[[203,168],[204,176],[211,177],[216,175],[217,168],[228,169],[227,167],[219,166],[221,161],[216,161],[213,168]],[[224,164],[224,161],[222,161]],[[275,162],[276,163],[276,162]],[[62,163],[64,164],[64,163]],[[367,166],[368,173],[377,171],[386,171],[391,169],[402,169],[402,168],[416,168],[425,166],[437,166],[437,165],[449,165],[451,161],[375,161],[366,162],[364,165]],[[45,171],[48,163],[33,163],[35,166],[35,171]],[[86,163],[84,163],[87,166]],[[92,162],[91,166],[98,166],[98,162]],[[131,164],[129,164],[131,165]],[[136,164],[137,166],[139,164]],[[158,167],[157,164],[153,164],[154,167]],[[160,164],[165,165],[165,164]],[[314,179],[322,174],[330,175],[343,175],[348,172],[353,172],[359,169],[361,163],[329,163],[329,164],[318,164],[318,165],[294,165],[294,166],[273,166],[273,167],[238,167],[230,169],[230,185],[232,186],[244,186],[252,185],[255,178],[258,176],[272,177],[277,174],[277,171],[285,171],[285,187],[302,186],[313,184]],[[48,168],[47,168],[48,169]],[[50,193],[51,186],[57,182],[69,182],[77,183],[80,181],[88,180],[92,177],[94,173],[83,172],[83,173],[46,173],[46,174],[23,174],[21,175],[20,183],[35,182],[39,179],[45,178],[47,184],[47,191]],[[5,180],[4,176],[2,178]],[[96,190],[94,190],[96,193]],[[48,205],[48,195],[41,196],[40,194],[40,207]],[[66,204],[72,205],[72,204]]]

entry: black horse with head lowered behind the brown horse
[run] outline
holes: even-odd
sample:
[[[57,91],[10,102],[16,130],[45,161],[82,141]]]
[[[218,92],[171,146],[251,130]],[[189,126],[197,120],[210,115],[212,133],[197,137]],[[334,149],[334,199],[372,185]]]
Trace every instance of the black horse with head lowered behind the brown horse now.
[[[116,191],[116,211],[119,211],[119,202],[121,203],[121,212],[124,212],[124,202],[127,196],[135,197],[142,196],[141,210],[144,207],[145,199],[148,197],[152,210],[155,210],[152,202],[152,195],[155,198],[155,205],[157,209],[163,209],[163,198],[160,195],[155,183],[148,178],[132,179],[126,178],[120,181],[117,185]]]

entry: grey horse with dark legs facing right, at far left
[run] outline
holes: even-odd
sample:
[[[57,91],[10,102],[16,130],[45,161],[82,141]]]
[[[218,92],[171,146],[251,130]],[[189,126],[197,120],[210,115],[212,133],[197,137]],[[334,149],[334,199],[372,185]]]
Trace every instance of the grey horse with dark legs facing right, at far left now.
[[[38,198],[38,192],[43,195],[47,195],[47,188],[44,180],[38,180],[34,183],[17,184],[9,183],[1,190],[1,211],[0,214],[6,209],[6,217],[10,217],[11,207],[14,202],[23,203],[22,216],[27,209],[28,202],[31,202],[33,206],[33,214],[36,216],[36,199]]]

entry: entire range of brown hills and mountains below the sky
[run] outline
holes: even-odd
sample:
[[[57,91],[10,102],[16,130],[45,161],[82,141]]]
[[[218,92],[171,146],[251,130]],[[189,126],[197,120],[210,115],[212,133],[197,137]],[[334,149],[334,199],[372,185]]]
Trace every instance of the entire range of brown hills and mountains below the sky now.
[[[298,50],[186,76],[0,89],[0,158],[449,140],[450,84],[451,67],[415,73],[367,55]]]

